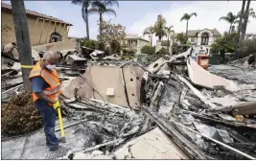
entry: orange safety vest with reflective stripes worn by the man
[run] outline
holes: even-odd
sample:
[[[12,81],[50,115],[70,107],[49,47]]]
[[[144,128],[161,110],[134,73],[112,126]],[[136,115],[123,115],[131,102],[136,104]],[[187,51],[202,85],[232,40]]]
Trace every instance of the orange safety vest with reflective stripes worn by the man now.
[[[49,73],[41,67],[40,61],[38,61],[30,73],[29,80],[31,81],[32,78],[38,76],[42,77],[44,81],[50,84],[50,87],[43,89],[42,93],[44,93],[49,99],[58,101],[58,97],[60,95],[60,82],[58,80],[56,69],[53,69],[52,73]],[[35,103],[37,99],[35,92],[33,92],[33,103]],[[52,104],[49,103],[49,105]]]

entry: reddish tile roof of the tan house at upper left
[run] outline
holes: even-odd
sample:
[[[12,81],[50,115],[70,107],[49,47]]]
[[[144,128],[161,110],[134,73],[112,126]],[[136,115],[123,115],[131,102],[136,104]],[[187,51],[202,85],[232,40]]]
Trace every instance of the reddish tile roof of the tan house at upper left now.
[[[1,8],[12,11],[12,5],[9,5],[9,4],[6,4],[6,3],[2,3]],[[63,23],[63,24],[73,26],[71,23],[62,21],[61,19],[58,19],[58,18],[50,16],[50,15],[42,14],[42,13],[39,13],[39,12],[33,12],[33,11],[30,11],[30,10],[26,10],[26,13],[29,14],[29,15],[34,15],[34,16],[37,16],[37,17],[40,17],[40,18],[49,19],[49,20],[53,20],[53,21],[57,21],[57,22],[60,22],[60,23]]]

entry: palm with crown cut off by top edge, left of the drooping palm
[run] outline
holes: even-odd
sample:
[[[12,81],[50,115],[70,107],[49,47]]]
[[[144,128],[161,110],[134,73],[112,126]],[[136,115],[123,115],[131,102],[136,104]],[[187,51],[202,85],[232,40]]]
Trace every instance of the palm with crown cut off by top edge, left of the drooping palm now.
[[[88,8],[90,6],[91,0],[72,0],[71,2],[74,5],[81,6],[81,17],[86,24],[86,36],[87,39],[90,39],[89,34],[89,20],[88,20]]]

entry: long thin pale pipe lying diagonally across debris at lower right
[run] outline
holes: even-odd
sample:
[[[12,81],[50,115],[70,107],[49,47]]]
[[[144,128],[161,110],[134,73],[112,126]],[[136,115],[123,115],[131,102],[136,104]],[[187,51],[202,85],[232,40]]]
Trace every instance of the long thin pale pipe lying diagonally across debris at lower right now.
[[[181,125],[181,124],[175,123],[175,122],[172,121],[172,120],[170,120],[170,122],[173,122],[173,123],[174,123],[175,125],[177,125],[177,126],[184,127],[184,128],[186,128],[186,129],[188,129],[188,130],[190,130],[190,131],[192,131],[192,132],[195,132],[195,133],[197,133],[198,135],[200,135],[200,136],[202,136],[202,137],[204,137],[204,138],[206,138],[206,139],[209,139],[209,140],[215,142],[216,144],[219,144],[219,145],[221,145],[221,146],[227,148],[228,150],[233,150],[233,151],[235,151],[235,152],[237,152],[237,153],[243,155],[244,157],[246,157],[246,158],[248,158],[248,159],[251,159],[251,160],[255,160],[255,159],[256,159],[256,158],[254,158],[254,157],[252,157],[252,156],[250,156],[250,155],[244,153],[244,152],[241,151],[241,150],[236,150],[236,149],[234,149],[234,148],[232,148],[232,147],[230,147],[230,146],[228,146],[228,145],[225,145],[225,144],[219,142],[218,140],[215,140],[215,139],[213,139],[213,138],[210,138],[210,137],[208,137],[208,136],[206,136],[206,135],[204,135],[204,134],[202,134],[202,133],[199,133],[199,132],[196,131],[196,130],[193,130],[193,129],[190,129],[189,127],[185,127],[185,126],[183,126],[183,125]]]

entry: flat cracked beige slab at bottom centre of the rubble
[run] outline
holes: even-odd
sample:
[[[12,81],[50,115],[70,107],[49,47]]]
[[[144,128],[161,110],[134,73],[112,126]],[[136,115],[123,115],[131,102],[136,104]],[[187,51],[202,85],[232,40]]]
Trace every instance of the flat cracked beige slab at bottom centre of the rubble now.
[[[190,159],[158,127],[128,142],[114,155],[117,159]]]

